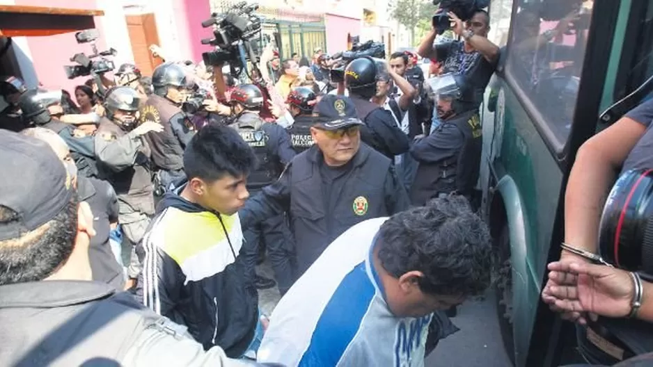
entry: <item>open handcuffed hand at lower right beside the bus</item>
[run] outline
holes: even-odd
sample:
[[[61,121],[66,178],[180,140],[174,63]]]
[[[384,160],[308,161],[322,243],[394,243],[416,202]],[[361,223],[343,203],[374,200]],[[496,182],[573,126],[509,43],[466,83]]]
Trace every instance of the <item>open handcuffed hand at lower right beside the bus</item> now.
[[[631,311],[635,292],[628,272],[603,265],[579,262],[549,264],[549,287],[545,302],[568,312],[591,312],[600,316],[621,318]],[[565,285],[563,285],[565,284]],[[586,323],[579,318],[581,324]]]

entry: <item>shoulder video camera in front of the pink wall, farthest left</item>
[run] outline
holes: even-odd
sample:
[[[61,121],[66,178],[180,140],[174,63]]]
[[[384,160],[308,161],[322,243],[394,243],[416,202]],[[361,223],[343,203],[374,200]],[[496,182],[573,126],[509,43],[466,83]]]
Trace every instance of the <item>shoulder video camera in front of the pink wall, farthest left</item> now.
[[[88,56],[83,52],[80,54],[74,54],[74,56],[70,58],[70,61],[74,61],[79,65],[65,65],[63,67],[68,79],[75,79],[79,76],[87,76],[91,74],[100,75],[105,72],[110,72],[115,68],[113,61],[104,56],[116,56],[117,51],[113,48],[108,49],[107,51],[97,51],[95,40],[100,38],[100,33],[98,33],[97,30],[87,29],[86,31],[75,33],[74,36],[79,44],[90,42],[91,47],[93,48],[93,54]],[[93,60],[94,58],[97,58],[97,60]]]

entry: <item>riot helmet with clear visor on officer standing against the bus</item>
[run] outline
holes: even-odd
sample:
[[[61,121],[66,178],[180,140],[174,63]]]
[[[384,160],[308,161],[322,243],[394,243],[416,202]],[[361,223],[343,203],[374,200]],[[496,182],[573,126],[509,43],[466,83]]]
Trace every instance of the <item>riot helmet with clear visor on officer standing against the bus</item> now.
[[[429,79],[427,83],[436,100],[436,111],[441,120],[475,108],[473,87],[464,76],[444,74]]]

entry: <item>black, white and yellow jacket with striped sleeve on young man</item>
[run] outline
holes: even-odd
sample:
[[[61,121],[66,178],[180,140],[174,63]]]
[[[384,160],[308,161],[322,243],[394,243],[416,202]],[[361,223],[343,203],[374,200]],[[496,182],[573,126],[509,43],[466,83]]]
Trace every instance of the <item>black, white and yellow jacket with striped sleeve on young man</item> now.
[[[182,190],[182,188],[180,188]],[[241,357],[258,323],[258,297],[244,282],[238,215],[220,215],[168,193],[139,247],[136,294],[186,325],[205,349]]]

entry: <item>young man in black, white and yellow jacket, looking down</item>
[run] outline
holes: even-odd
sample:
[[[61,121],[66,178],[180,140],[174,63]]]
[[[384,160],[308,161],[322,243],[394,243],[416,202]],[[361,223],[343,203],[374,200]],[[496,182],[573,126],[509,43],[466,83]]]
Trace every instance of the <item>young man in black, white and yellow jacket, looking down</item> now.
[[[247,286],[237,211],[249,197],[254,153],[235,129],[210,124],[184,152],[188,181],[159,203],[143,238],[139,296],[230,357],[258,348],[258,298]],[[143,254],[141,254],[141,257]]]

